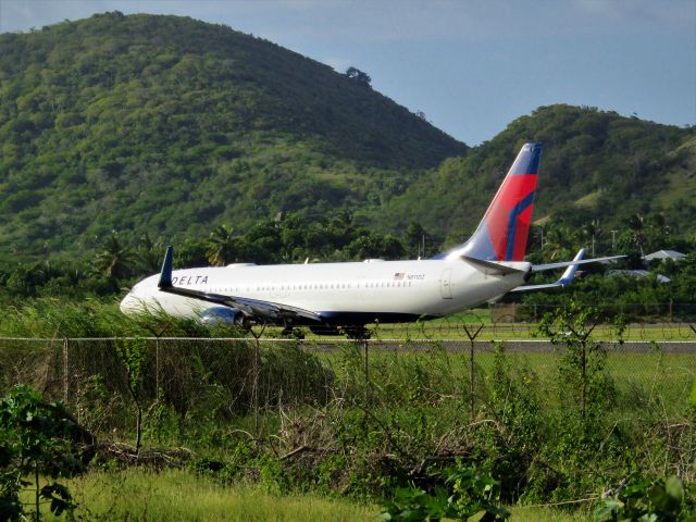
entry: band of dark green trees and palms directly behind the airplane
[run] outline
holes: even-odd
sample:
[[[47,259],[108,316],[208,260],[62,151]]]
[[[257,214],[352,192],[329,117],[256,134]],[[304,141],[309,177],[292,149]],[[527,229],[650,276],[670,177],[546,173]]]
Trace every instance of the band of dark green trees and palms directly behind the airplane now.
[[[568,231],[549,225],[544,248],[530,258],[537,261],[570,259],[574,248],[589,244],[587,228],[581,228],[577,234],[569,232],[564,235],[564,232]],[[428,238],[424,251],[423,235]],[[650,227],[642,229],[638,237],[645,245],[669,239],[659,236],[659,228]],[[654,262],[646,277],[609,276],[608,272],[618,268],[643,266],[634,235],[626,231],[620,239],[617,248],[630,256],[616,266],[585,268],[577,281],[562,291],[511,294],[505,300],[527,304],[519,309],[518,320],[537,318],[537,306],[543,310],[546,306],[573,299],[586,304],[600,303],[608,318],[625,314],[633,321],[693,321],[696,316],[696,254],[691,253],[676,262]],[[338,213],[332,219],[310,219],[297,213],[262,221],[243,231],[221,225],[204,238],[188,238],[176,245],[175,264],[184,268],[225,265],[249,259],[259,263],[297,263],[306,260],[428,257],[436,252],[431,240],[427,231],[415,223],[397,236],[361,227],[348,213]],[[682,239],[679,246],[693,252],[691,241]],[[29,316],[35,306],[42,307],[40,300],[37,304],[32,302],[37,298],[59,297],[63,301],[97,298],[109,307],[136,281],[159,271],[164,248],[164,244],[152,240],[148,235],[133,238],[113,233],[104,238],[95,253],[74,259],[7,262],[0,264],[0,302],[23,308]],[[597,248],[610,250],[610,245],[605,247],[597,241]],[[658,274],[671,278],[671,282],[661,283]],[[547,274],[534,281],[554,281],[556,277],[558,274]],[[7,318],[4,321],[7,324]],[[0,321],[0,331],[3,330]]]

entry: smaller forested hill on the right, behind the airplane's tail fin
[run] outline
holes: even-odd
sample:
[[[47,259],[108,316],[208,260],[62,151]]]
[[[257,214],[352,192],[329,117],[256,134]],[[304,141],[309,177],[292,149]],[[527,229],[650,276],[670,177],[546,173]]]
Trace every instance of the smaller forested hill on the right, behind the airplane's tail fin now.
[[[475,227],[514,153],[530,140],[544,144],[537,225],[595,223],[605,239],[636,219],[662,222],[671,235],[696,232],[696,129],[571,105],[542,107],[515,120],[415,181],[375,217],[415,215],[458,240]]]

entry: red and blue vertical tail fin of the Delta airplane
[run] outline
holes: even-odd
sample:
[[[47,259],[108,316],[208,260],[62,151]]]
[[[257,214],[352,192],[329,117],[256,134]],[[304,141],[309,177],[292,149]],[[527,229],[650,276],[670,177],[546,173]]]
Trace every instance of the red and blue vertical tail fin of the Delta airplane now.
[[[524,261],[540,156],[542,144],[523,145],[476,232],[435,259],[465,254],[487,261]]]

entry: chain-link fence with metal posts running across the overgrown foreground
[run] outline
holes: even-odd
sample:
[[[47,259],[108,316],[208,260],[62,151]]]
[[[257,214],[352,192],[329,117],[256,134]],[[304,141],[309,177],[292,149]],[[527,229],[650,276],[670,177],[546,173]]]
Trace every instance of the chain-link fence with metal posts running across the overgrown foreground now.
[[[604,343],[597,352],[617,414],[688,408],[696,341]],[[0,391],[33,385],[102,434],[132,431],[134,400],[150,424],[164,422],[157,418],[166,410],[182,434],[202,419],[259,430],[270,412],[336,401],[361,409],[410,401],[473,418],[501,371],[535,389],[543,408],[567,407],[575,384],[563,377],[563,353],[546,340],[2,338]]]

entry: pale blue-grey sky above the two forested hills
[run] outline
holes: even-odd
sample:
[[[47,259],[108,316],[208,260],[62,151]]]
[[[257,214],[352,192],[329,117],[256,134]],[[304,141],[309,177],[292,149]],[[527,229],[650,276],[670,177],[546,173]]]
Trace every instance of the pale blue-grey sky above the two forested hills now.
[[[116,10],[356,66],[471,146],[552,103],[696,125],[696,0],[0,0],[0,33]]]

